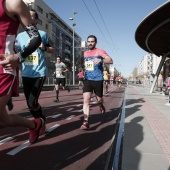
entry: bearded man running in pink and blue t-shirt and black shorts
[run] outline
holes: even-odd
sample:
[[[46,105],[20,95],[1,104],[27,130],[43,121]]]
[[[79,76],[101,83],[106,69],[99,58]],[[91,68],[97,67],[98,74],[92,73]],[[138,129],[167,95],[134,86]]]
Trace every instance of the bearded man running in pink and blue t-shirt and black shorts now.
[[[90,98],[94,91],[100,111],[105,113],[103,106],[103,62],[112,64],[112,58],[102,49],[96,48],[97,38],[94,35],[87,37],[88,51],[84,53],[84,87],[83,87],[83,112],[84,122],[80,129],[89,129]]]

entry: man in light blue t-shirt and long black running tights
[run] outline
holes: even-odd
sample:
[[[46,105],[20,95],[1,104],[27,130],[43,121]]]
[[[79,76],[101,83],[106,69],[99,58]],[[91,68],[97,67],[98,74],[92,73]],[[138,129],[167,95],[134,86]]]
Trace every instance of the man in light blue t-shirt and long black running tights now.
[[[38,23],[38,14],[35,10],[30,9],[31,17],[35,24]],[[22,82],[24,95],[27,101],[28,108],[34,118],[42,118],[43,128],[40,130],[40,135],[45,132],[46,117],[42,114],[42,108],[38,102],[42,87],[44,85],[47,76],[47,66],[45,59],[45,52],[54,53],[53,43],[50,40],[46,32],[38,30],[41,36],[41,44],[34,53],[28,56],[28,58],[22,62]],[[28,42],[29,36],[24,31],[18,34],[16,38],[16,48],[18,51],[22,51],[25,48],[25,44]]]

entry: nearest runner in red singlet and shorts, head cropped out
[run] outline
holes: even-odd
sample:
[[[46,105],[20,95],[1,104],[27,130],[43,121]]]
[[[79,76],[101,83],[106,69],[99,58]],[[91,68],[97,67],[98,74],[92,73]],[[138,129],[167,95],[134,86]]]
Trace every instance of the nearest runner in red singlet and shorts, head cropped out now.
[[[25,44],[23,51],[15,54],[14,41],[20,23],[31,39]],[[0,25],[0,127],[28,128],[29,142],[32,144],[39,137],[42,120],[40,118],[29,120],[16,114],[9,115],[5,107],[11,96],[18,96],[19,62],[38,48],[41,37],[22,0],[0,0]]]

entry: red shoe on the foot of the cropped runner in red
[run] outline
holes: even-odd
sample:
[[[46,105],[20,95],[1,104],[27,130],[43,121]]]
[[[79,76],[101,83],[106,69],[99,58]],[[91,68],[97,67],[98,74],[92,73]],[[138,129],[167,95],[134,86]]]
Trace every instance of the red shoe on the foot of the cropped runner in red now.
[[[42,127],[42,120],[40,118],[34,119],[34,122],[36,124],[36,127],[33,130],[29,129],[29,142],[31,144],[35,143],[38,140],[40,129]]]

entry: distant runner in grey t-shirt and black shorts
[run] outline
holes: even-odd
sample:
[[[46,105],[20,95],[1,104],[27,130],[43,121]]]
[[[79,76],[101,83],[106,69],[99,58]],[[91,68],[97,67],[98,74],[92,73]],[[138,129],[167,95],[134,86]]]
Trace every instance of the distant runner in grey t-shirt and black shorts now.
[[[67,89],[68,93],[70,92],[70,88],[68,86],[65,87],[65,75],[63,73],[66,73],[68,71],[68,68],[66,65],[61,62],[61,57],[58,56],[55,64],[55,72],[53,75],[56,77],[56,98],[54,99],[54,102],[59,102],[59,88],[60,84],[63,88],[63,90]]]

